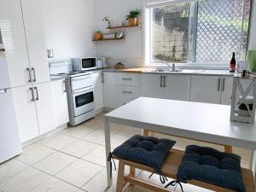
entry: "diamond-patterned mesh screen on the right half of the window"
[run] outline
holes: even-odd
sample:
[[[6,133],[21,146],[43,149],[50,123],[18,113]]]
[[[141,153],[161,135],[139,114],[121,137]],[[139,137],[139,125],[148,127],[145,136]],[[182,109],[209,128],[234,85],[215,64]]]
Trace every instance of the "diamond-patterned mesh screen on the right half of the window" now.
[[[250,0],[206,0],[198,3],[196,61],[244,59]]]

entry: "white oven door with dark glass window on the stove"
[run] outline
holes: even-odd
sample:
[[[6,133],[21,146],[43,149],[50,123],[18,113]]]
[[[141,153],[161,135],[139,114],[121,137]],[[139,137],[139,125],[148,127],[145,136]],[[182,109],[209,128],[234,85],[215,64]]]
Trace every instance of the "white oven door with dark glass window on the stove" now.
[[[95,109],[92,87],[74,90],[72,94],[75,117]]]

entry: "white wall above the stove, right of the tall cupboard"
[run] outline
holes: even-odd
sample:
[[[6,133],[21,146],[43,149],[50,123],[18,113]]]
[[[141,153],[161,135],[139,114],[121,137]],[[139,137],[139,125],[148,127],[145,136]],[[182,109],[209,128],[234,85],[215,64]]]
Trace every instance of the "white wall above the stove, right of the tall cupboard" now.
[[[96,56],[94,0],[41,0],[48,49],[56,58]]]

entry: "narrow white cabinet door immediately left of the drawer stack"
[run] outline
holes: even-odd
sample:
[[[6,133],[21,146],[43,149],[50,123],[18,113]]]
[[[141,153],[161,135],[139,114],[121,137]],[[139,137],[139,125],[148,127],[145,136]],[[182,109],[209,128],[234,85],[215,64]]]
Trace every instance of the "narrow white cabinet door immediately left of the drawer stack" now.
[[[103,73],[104,108],[116,108],[115,73]]]

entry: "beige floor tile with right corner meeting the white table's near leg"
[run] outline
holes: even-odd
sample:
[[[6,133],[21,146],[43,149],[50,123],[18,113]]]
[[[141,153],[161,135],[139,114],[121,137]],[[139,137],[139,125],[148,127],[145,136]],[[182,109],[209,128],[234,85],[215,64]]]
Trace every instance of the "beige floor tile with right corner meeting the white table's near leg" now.
[[[87,162],[85,160],[77,160],[72,165],[67,166],[63,171],[59,172],[55,177],[59,177],[67,183],[81,188],[98,172],[101,172],[102,166]]]

